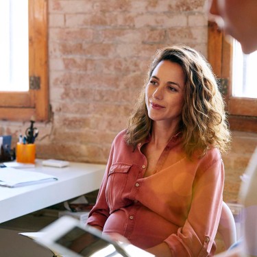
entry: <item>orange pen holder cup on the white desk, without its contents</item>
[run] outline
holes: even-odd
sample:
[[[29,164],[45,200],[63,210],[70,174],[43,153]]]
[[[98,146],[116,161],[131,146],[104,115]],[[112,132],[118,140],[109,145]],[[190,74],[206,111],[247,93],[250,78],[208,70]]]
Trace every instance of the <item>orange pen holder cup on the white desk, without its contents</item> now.
[[[36,145],[17,143],[16,145],[16,162],[35,163]]]

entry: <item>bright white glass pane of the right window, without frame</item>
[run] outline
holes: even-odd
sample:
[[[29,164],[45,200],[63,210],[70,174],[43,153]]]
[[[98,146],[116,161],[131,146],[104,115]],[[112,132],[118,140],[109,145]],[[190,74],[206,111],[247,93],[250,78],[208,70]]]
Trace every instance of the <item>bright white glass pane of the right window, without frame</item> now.
[[[257,98],[256,65],[257,51],[245,55],[241,45],[233,40],[233,97]]]

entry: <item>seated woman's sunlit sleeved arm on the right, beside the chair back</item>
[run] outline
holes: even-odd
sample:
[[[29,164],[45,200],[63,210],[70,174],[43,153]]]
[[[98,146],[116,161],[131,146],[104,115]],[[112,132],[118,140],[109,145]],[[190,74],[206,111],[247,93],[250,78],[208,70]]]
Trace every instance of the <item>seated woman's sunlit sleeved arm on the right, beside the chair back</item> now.
[[[219,151],[212,149],[199,163],[184,226],[164,241],[174,256],[210,254],[221,217],[223,183],[223,161]]]

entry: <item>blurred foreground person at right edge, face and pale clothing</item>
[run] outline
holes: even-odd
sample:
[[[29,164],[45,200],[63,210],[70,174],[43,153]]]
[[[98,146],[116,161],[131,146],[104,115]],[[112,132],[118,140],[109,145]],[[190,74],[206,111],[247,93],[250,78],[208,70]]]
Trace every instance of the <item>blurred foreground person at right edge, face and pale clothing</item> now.
[[[207,4],[209,19],[238,40],[243,53],[257,50],[256,0],[208,0]],[[247,180],[241,184],[239,197],[245,207],[243,243],[225,256],[257,256],[257,149],[245,173]]]

